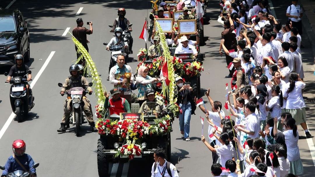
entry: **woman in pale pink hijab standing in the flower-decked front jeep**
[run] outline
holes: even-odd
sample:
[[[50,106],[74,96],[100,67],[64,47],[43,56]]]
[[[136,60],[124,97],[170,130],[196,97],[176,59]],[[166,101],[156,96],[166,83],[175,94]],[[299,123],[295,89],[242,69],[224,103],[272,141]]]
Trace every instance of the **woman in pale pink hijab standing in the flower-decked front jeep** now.
[[[154,82],[159,82],[160,79],[152,78],[148,76],[148,68],[146,66],[139,66],[138,75],[136,77],[137,87],[138,87],[138,102],[141,106],[142,103],[146,100],[145,91],[148,88],[152,88],[151,84]]]

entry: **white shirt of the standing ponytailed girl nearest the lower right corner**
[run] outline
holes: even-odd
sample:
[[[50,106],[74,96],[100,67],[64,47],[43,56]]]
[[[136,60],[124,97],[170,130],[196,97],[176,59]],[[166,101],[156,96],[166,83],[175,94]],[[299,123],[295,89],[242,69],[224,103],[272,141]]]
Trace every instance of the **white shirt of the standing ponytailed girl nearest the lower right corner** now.
[[[287,145],[287,159],[290,162],[294,162],[300,159],[300,150],[297,144],[299,140],[299,132],[296,131],[296,137],[293,135],[293,130],[286,130],[283,132],[285,144]]]

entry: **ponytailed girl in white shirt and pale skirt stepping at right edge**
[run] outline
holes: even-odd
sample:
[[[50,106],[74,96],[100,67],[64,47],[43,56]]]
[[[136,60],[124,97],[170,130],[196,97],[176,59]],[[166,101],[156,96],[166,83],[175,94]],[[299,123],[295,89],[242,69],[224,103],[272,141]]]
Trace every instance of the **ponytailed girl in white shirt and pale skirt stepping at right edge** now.
[[[306,83],[301,80],[296,72],[291,72],[290,82],[286,85],[287,89],[284,93],[284,97],[287,97],[286,112],[292,114],[296,124],[301,124],[304,129],[306,138],[310,138],[312,135],[307,129],[305,102],[302,95],[302,89],[305,88]]]

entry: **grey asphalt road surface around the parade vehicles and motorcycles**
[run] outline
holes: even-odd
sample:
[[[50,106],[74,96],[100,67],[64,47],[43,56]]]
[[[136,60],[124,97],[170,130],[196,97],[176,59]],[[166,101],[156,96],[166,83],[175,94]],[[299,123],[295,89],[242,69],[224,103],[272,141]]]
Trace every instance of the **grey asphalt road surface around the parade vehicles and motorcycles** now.
[[[3,3],[7,3],[4,1]],[[8,1],[9,3],[9,1]],[[201,88],[211,87],[211,96],[214,100],[222,103],[225,101],[225,83],[230,83],[230,79],[225,79],[228,70],[225,68],[225,58],[218,55],[218,47],[221,40],[223,28],[216,22],[218,12],[218,2],[210,1],[207,9],[210,20],[209,25],[204,26],[206,45],[201,47],[201,52],[206,53],[203,62],[204,72],[201,76]],[[5,5],[6,6],[6,5]],[[3,5],[3,7],[5,7]],[[82,12],[76,15],[80,7]],[[40,163],[37,168],[38,176],[61,177],[61,176],[89,176],[97,177],[96,163],[96,143],[99,135],[89,131],[89,125],[85,124],[81,131],[82,136],[76,137],[74,128],[70,128],[66,133],[57,133],[63,115],[63,103],[65,97],[59,95],[60,88],[57,83],[64,82],[69,76],[68,68],[76,59],[74,44],[70,35],[61,36],[67,27],[76,26],[76,19],[83,18],[93,22],[93,34],[88,36],[91,41],[89,53],[102,75],[103,84],[107,90],[112,85],[106,81],[108,76],[108,65],[110,52],[105,51],[102,43],[109,42],[112,34],[109,33],[112,22],[117,18],[117,9],[126,8],[126,17],[133,23],[132,36],[134,38],[135,60],[129,65],[135,71],[138,62],[136,53],[140,48],[145,47],[144,40],[139,39],[145,17],[150,13],[151,8],[143,0],[126,0],[123,2],[104,2],[100,0],[90,1],[21,1],[17,0],[11,8],[18,8],[28,21],[31,38],[31,61],[28,63],[32,70],[33,78],[47,60],[52,51],[55,51],[47,67],[33,87],[35,96],[35,106],[29,113],[28,119],[23,123],[13,120],[3,136],[0,134],[0,164],[4,164],[12,154],[11,144],[15,139],[26,141],[26,153],[30,154],[35,162]],[[4,71],[9,68],[1,68],[0,80],[0,128],[4,126],[8,117],[12,113],[9,104],[9,84],[4,85],[6,77]],[[90,78],[89,78],[90,79]],[[96,101],[93,96],[88,96],[92,105]],[[205,97],[204,97],[205,98]],[[205,100],[205,99],[204,99]],[[210,109],[210,104],[206,104]],[[93,110],[95,112],[95,110]],[[201,124],[198,109],[196,115],[191,119],[191,141],[186,142],[180,138],[179,122],[176,119],[173,124],[174,131],[171,134],[172,141],[172,163],[176,165],[179,175],[188,176],[209,176],[211,175],[211,152],[200,141]],[[205,124],[204,135],[206,135],[207,125]],[[309,156],[308,152],[301,152]],[[149,176],[153,162],[134,160],[130,163],[116,164],[112,176]]]

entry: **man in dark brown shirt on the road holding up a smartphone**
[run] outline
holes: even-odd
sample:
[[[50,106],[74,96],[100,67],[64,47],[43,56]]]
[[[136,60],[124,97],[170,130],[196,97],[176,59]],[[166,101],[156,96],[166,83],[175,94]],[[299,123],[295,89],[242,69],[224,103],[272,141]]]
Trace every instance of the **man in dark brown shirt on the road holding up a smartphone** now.
[[[83,45],[83,47],[89,52],[88,43],[89,40],[87,39],[87,34],[93,33],[92,22],[88,22],[90,29],[87,29],[83,26],[82,18],[77,19],[77,27],[73,28],[72,35]],[[75,46],[77,52],[77,46]],[[80,57],[81,54],[77,53],[77,59]],[[83,58],[78,64],[85,66],[85,59]]]

